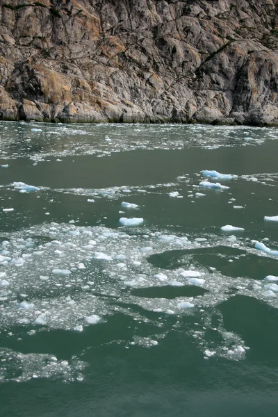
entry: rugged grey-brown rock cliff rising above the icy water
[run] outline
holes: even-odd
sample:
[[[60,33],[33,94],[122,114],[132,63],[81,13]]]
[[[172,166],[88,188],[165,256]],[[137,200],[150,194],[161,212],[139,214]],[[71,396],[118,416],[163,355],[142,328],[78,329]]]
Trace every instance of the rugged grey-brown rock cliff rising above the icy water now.
[[[0,0],[0,119],[278,125],[278,0]]]

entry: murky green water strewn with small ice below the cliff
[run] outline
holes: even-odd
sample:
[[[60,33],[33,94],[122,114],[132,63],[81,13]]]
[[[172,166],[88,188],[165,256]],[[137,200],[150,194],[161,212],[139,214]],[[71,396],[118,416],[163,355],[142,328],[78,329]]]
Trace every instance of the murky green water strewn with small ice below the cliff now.
[[[0,124],[1,417],[275,415],[277,136]]]

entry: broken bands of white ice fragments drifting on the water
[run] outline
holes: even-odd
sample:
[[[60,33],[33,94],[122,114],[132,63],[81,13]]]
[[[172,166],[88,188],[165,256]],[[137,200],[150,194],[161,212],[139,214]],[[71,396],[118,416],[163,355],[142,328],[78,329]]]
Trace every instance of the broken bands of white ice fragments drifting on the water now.
[[[5,124],[1,126],[6,129]],[[48,158],[53,157],[52,163],[63,165],[60,158],[66,156],[111,156],[113,152],[186,147],[211,152],[238,143],[261,145],[265,138],[276,138],[274,129],[242,126],[218,126],[215,130],[213,126],[167,125],[158,129],[138,124],[129,128],[127,139],[125,125],[115,125],[109,135],[102,124],[95,129],[84,125],[30,126],[24,122],[13,126],[0,144],[1,157],[10,161],[1,165],[4,174],[12,169],[13,159],[22,154],[33,165],[50,162]],[[189,140],[183,138],[184,129],[190,131]],[[20,138],[19,147],[15,138]],[[32,152],[34,146],[40,152]],[[1,185],[7,193],[1,210],[7,221],[17,216],[12,197],[48,198],[52,202],[61,194],[81,197],[92,212],[100,201],[107,199],[112,204],[109,200],[115,200],[118,217],[115,228],[79,226],[72,219],[1,232],[0,332],[10,345],[0,345],[0,382],[36,378],[83,381],[88,364],[82,355],[69,359],[48,353],[22,353],[20,342],[28,339],[32,344],[35,337],[58,330],[79,337],[106,329],[118,316],[128,320],[130,336],[110,338],[108,332],[105,343],[117,343],[122,349],[155,349],[174,331],[186,334],[206,360],[242,360],[250,347],[240,335],[225,329],[218,307],[236,295],[244,295],[278,308],[276,272],[265,272],[254,279],[251,272],[246,272],[248,268],[243,268],[242,275],[228,275],[224,268],[215,268],[206,261],[206,256],[217,256],[236,267],[256,259],[278,259],[275,239],[252,240],[252,233],[242,227],[240,215],[247,207],[232,194],[234,186],[246,182],[250,188],[274,187],[277,173],[236,175],[229,170],[222,173],[203,169],[188,174],[185,169],[170,182],[106,188],[51,188],[41,186],[35,178],[31,183],[18,181],[21,178]],[[197,206],[206,204],[208,196],[223,196],[238,219],[215,226],[215,233],[193,229],[183,233],[172,231],[170,225],[163,229],[152,225],[142,214],[143,205],[133,201],[134,196],[141,195],[165,195],[173,206],[184,201]],[[45,209],[45,215],[51,213]],[[261,220],[267,227],[275,227],[278,215],[270,211]],[[187,324],[188,318],[194,325]]]

